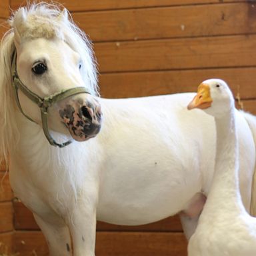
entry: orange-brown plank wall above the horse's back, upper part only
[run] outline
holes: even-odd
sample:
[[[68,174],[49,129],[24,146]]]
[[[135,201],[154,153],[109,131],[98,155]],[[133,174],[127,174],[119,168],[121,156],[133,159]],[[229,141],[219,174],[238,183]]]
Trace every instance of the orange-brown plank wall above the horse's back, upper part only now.
[[[23,2],[11,0],[11,8]],[[68,0],[65,6],[95,43],[103,97],[194,91],[200,81],[220,77],[254,111],[254,2]]]

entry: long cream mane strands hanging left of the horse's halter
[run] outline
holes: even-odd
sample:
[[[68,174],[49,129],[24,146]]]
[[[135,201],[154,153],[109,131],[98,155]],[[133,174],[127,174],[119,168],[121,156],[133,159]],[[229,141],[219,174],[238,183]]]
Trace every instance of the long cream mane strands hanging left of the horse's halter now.
[[[15,120],[15,98],[11,85],[11,61],[15,49],[13,29],[3,36],[0,44],[0,163],[8,163],[8,152],[18,139]]]

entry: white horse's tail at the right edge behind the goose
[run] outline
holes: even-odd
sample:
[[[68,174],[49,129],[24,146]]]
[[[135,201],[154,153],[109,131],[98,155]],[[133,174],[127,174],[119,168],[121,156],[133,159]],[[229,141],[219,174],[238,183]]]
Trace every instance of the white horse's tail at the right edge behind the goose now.
[[[256,117],[250,113],[242,112],[245,120],[247,121],[249,128],[251,129],[251,134],[253,135],[253,140],[256,148]],[[250,206],[251,215],[256,217],[256,162],[253,173],[253,181],[251,186],[251,206]]]

